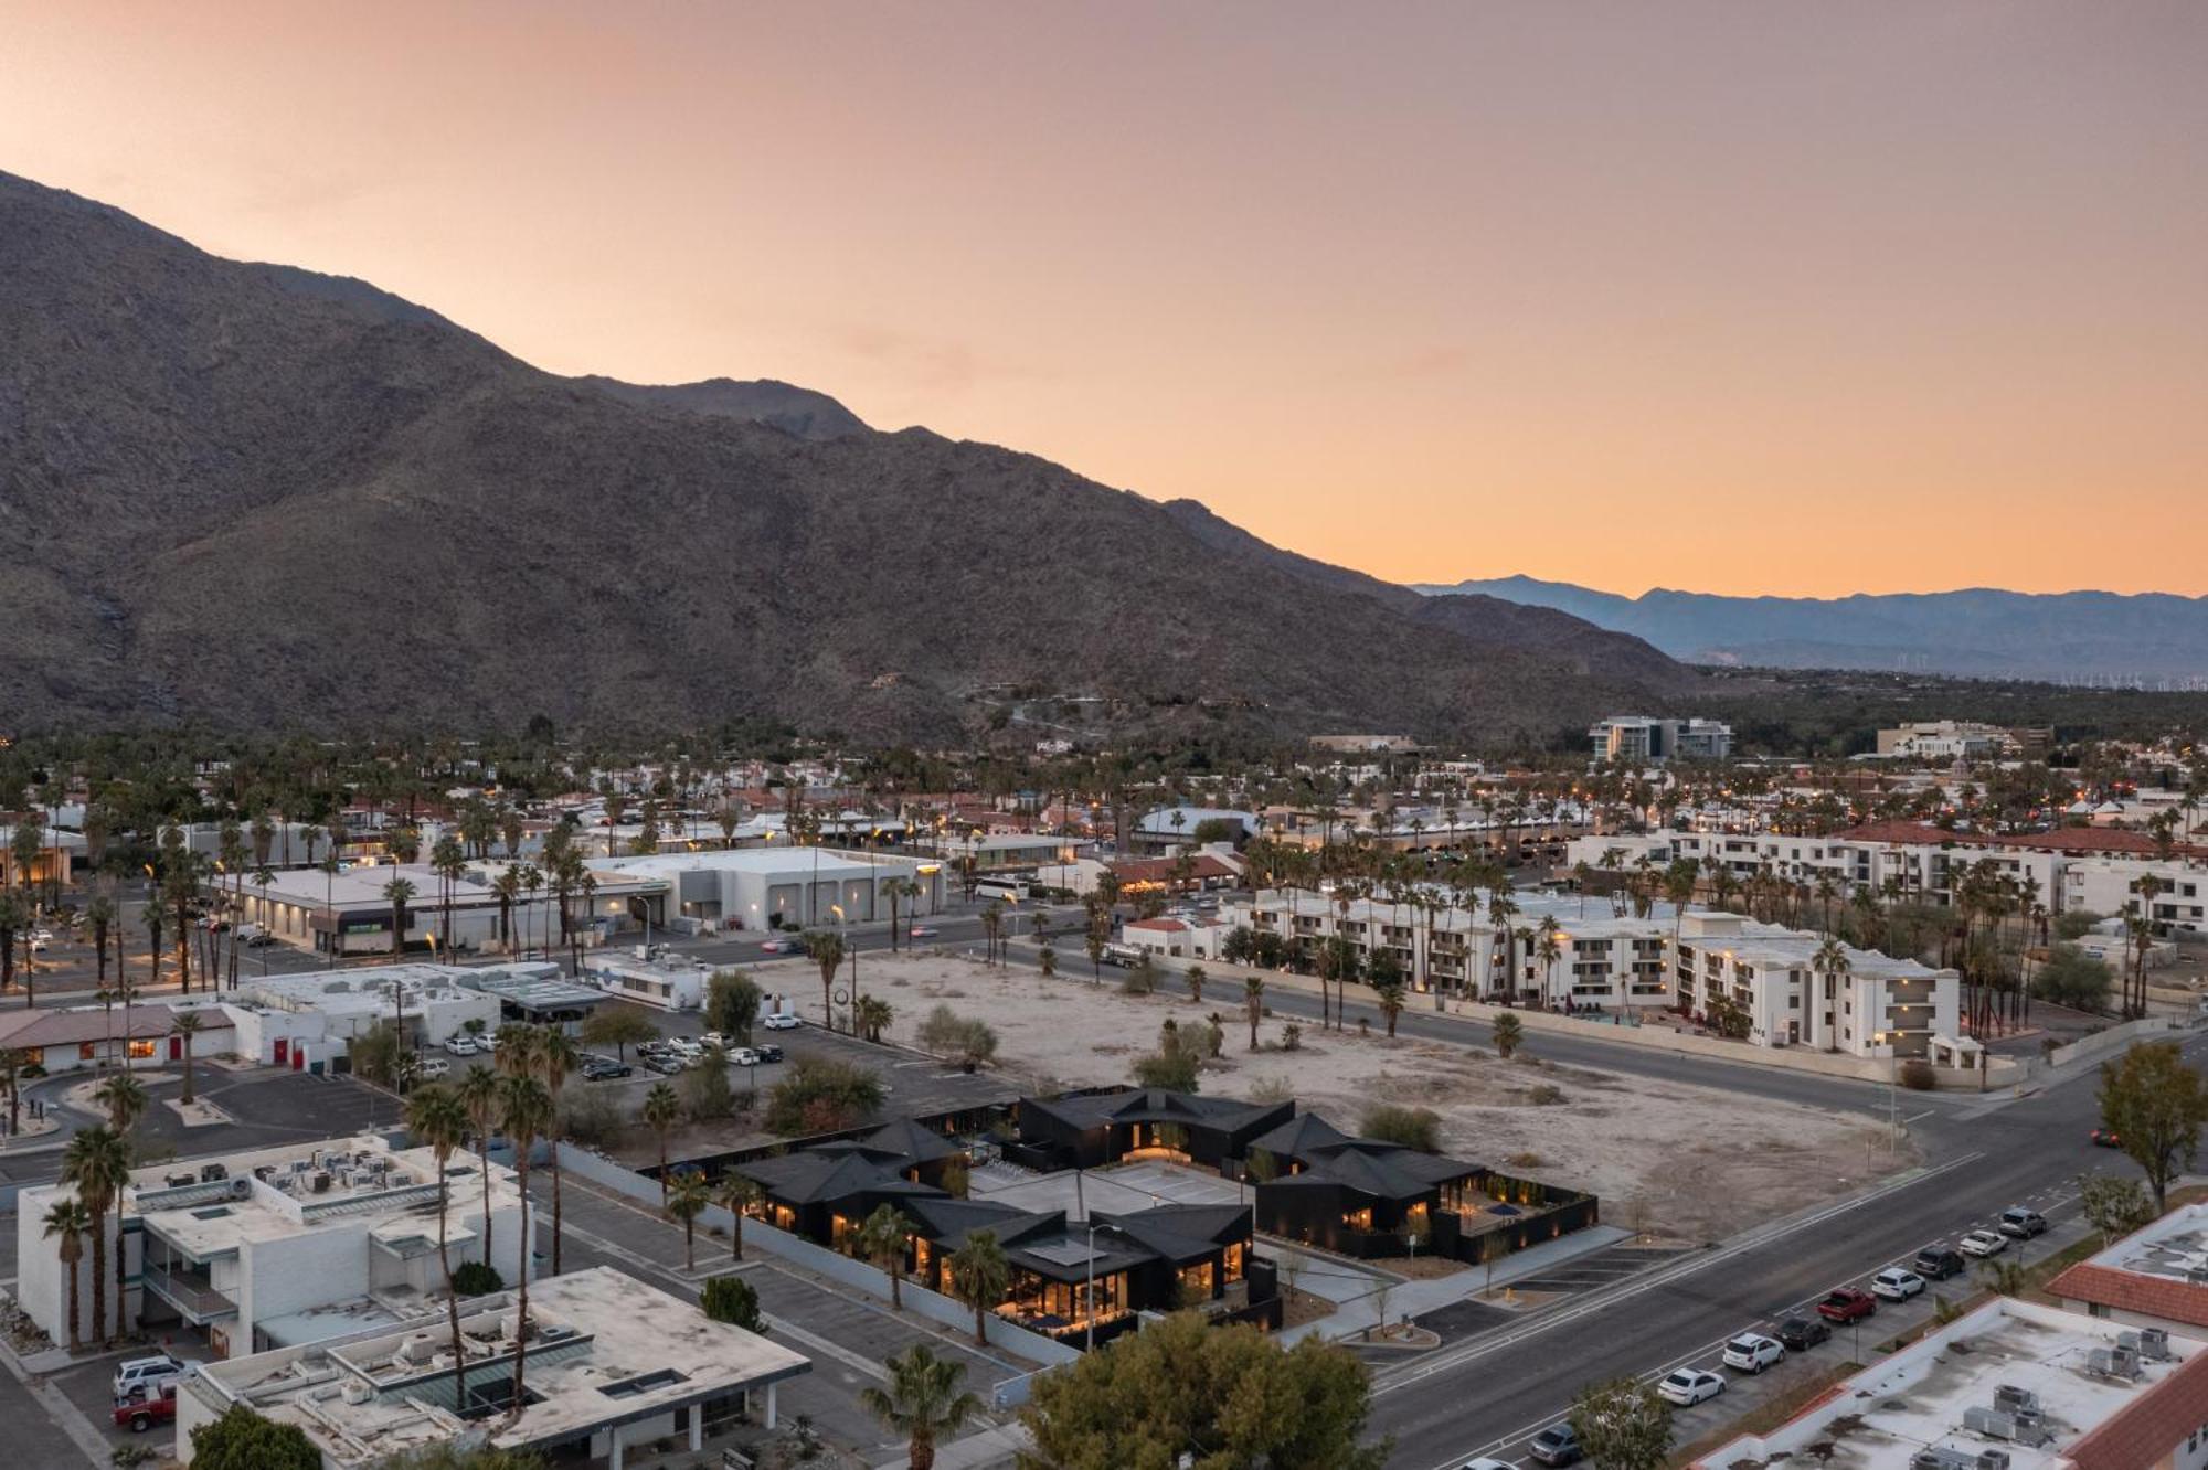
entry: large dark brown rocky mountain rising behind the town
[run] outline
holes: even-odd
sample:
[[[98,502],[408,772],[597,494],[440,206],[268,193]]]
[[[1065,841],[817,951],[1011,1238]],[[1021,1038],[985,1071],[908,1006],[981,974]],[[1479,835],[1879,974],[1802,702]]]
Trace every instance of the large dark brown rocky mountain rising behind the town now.
[[[779,382],[559,377],[373,285],[0,174],[22,728],[1554,735],[1705,678]]]

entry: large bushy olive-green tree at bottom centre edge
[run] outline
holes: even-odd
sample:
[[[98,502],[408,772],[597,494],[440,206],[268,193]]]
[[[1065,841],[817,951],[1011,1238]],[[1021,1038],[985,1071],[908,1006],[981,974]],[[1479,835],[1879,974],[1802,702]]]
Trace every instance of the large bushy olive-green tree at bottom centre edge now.
[[[1254,1327],[1206,1327],[1179,1311],[1036,1377],[1020,1421],[1036,1444],[1022,1468],[1380,1470],[1393,1437],[1358,1444],[1371,1373],[1349,1351],[1294,1349]]]

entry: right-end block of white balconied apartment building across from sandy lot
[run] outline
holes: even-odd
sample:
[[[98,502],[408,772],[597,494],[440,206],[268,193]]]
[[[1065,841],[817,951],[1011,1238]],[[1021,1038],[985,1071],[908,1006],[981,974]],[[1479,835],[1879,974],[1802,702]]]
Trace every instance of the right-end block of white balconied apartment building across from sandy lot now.
[[[1808,1046],[1853,1057],[1972,1053],[1961,1040],[1961,976],[1875,949],[1841,947],[1848,969],[1817,969],[1822,934],[1691,909],[1671,967],[1678,1009],[1713,1018],[1718,998],[1749,1018],[1758,1046]]]

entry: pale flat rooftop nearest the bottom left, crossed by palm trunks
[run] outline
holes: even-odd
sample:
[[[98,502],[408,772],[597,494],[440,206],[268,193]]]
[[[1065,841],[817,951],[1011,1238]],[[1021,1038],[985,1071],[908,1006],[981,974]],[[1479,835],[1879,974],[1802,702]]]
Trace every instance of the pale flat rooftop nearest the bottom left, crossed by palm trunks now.
[[[530,1402],[508,1419],[486,1395],[512,1382],[517,1296],[492,1293],[461,1315],[466,1402],[442,1313],[397,1329],[203,1364],[185,1391],[210,1410],[247,1404],[296,1424],[333,1466],[488,1435],[495,1448],[550,1448],[609,1424],[729,1397],[810,1371],[782,1346],[709,1320],[698,1307],[612,1267],[530,1287]]]

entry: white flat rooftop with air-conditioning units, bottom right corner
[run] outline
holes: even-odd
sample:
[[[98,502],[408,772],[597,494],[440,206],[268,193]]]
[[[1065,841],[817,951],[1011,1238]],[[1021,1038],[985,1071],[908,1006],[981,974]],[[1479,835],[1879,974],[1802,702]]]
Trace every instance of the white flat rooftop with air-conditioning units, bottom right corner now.
[[[2135,1380],[2093,1368],[2093,1353],[2117,1346],[2117,1322],[2058,1307],[1996,1298],[1958,1322],[1894,1353],[1839,1384],[1813,1408],[1769,1435],[1742,1435],[1696,1466],[1819,1463],[1828,1470],[1908,1470],[1919,1450],[1963,1450],[1972,1457],[2000,1448],[2009,1470],[2071,1470],[2111,1466],[2095,1455],[2073,1455],[2095,1430],[2146,1408],[2199,1353],[2193,1338],[2170,1338],[2173,1362],[2148,1362]],[[2204,1360],[2208,1366],[2208,1360]],[[2177,1384],[2193,1399],[2197,1373]],[[2045,1444],[1992,1439],[1965,1426],[1974,1408],[1994,1408],[1996,1391],[2038,1399]],[[2159,1408],[2157,1408],[2159,1413]],[[2186,1428],[2201,1419],[2199,1402],[2186,1408]],[[2177,1430],[2184,1439],[2186,1430]],[[2106,1444],[2106,1441],[2102,1441]],[[1826,1446],[1815,1459],[1811,1446]],[[1780,1459],[1793,1455],[1797,1459]],[[2153,1463],[2151,1459],[2137,1461]]]

